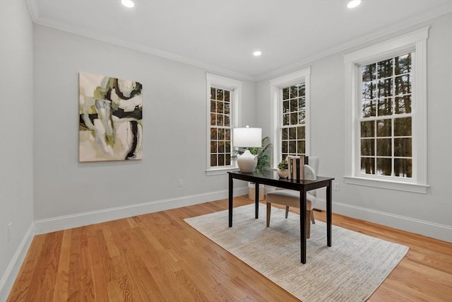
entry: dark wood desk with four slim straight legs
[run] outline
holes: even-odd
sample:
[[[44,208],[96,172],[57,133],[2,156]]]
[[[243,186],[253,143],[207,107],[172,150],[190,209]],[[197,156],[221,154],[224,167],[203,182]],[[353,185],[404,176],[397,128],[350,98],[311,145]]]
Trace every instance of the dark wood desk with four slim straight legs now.
[[[251,173],[242,173],[240,171],[229,173],[229,226],[232,227],[232,209],[234,200],[234,178],[254,182],[254,203],[256,204],[256,219],[259,213],[259,185],[271,185],[273,187],[283,187],[284,189],[299,191],[299,226],[300,226],[300,245],[302,250],[302,263],[306,263],[306,193],[310,190],[326,187],[326,245],[331,246],[331,205],[332,192],[331,182],[334,178],[325,178],[318,176],[317,180],[287,180],[279,178],[278,171],[275,170],[255,170]]]

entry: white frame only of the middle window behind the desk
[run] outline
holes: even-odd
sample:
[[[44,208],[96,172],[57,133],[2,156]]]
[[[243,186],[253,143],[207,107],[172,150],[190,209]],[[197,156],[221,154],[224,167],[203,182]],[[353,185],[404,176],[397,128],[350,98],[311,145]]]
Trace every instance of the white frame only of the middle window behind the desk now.
[[[281,158],[281,137],[280,128],[283,127],[283,112],[282,112],[282,101],[283,101],[283,88],[287,88],[299,83],[304,83],[305,88],[305,122],[304,122],[304,153],[309,156],[310,150],[310,108],[311,108],[311,89],[309,85],[311,76],[311,67],[308,66],[299,71],[286,74],[284,76],[279,76],[278,78],[271,79],[269,81],[270,86],[270,140],[278,142],[278,144],[273,144],[273,156],[271,167],[277,168],[278,163]]]

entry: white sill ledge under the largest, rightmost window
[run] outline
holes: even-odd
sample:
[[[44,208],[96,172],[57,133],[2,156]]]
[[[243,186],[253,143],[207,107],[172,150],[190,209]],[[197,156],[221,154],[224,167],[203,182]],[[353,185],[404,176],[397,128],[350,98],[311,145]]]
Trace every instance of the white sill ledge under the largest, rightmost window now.
[[[375,180],[369,178],[357,178],[354,176],[344,176],[345,183],[350,185],[365,185],[367,187],[380,187],[382,189],[399,190],[405,192],[427,193],[429,185],[420,185],[409,182],[394,182],[388,180]]]

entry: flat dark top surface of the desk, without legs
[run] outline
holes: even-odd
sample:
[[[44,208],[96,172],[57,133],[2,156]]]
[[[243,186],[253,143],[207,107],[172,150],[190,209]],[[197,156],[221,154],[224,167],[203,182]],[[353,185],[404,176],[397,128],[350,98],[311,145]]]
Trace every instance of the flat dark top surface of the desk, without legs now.
[[[306,190],[314,190],[318,187],[325,187],[334,178],[317,176],[316,180],[295,180],[280,178],[277,170],[254,170],[251,173],[244,173],[242,171],[228,172],[232,178],[239,180],[246,180],[251,182],[258,182],[263,185],[273,185],[274,187],[283,187],[285,189],[300,190],[305,187]]]

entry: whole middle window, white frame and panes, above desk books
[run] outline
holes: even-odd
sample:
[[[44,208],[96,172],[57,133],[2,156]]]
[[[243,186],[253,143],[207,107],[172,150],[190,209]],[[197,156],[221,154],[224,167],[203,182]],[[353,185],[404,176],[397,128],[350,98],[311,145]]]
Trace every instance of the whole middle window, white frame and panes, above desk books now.
[[[309,75],[305,68],[270,81],[273,163],[287,155],[309,154]]]

